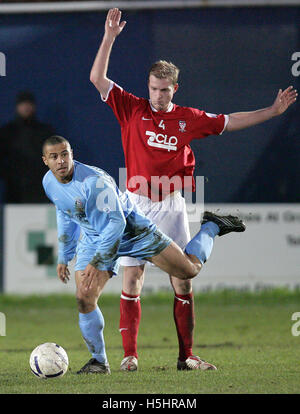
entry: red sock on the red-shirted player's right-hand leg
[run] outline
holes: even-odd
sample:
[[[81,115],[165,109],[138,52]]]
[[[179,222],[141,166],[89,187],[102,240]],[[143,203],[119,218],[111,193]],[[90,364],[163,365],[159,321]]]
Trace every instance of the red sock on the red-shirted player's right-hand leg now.
[[[179,343],[179,360],[193,355],[193,330],[195,326],[193,293],[174,297],[174,320]]]

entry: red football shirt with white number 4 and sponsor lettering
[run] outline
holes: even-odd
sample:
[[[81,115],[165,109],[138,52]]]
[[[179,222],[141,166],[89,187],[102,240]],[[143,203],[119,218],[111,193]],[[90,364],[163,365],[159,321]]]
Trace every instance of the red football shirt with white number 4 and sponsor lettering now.
[[[192,139],[223,132],[227,115],[170,104],[155,111],[149,100],[111,84],[106,98],[120,126],[129,191],[158,201],[178,189],[195,191]],[[185,178],[186,177],[186,178]]]

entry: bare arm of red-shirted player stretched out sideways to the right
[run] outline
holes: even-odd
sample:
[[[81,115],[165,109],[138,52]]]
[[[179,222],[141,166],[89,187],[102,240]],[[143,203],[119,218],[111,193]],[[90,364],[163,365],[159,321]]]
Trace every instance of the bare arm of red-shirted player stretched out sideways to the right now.
[[[284,91],[279,89],[275,101],[268,108],[252,112],[236,112],[229,114],[226,131],[237,131],[239,129],[248,128],[281,115],[296,101],[297,95],[297,91],[293,86],[289,86]]]

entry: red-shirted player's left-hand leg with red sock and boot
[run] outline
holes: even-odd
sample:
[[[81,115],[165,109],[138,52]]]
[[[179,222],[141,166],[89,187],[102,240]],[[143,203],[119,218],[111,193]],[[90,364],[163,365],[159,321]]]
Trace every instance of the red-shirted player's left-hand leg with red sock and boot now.
[[[121,264],[132,264],[133,261],[139,262],[122,257]],[[143,264],[124,266],[119,325],[124,349],[120,366],[122,371],[136,371],[138,367],[137,337],[141,320],[140,293],[144,282],[144,267]]]

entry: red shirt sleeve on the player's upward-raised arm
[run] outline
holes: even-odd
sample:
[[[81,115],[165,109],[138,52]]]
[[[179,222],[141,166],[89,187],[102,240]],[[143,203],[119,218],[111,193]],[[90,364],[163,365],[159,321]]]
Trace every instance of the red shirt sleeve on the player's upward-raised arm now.
[[[132,93],[124,91],[121,86],[114,82],[111,84],[107,97],[102,97],[102,100],[112,108],[120,124],[130,120],[141,99]]]

